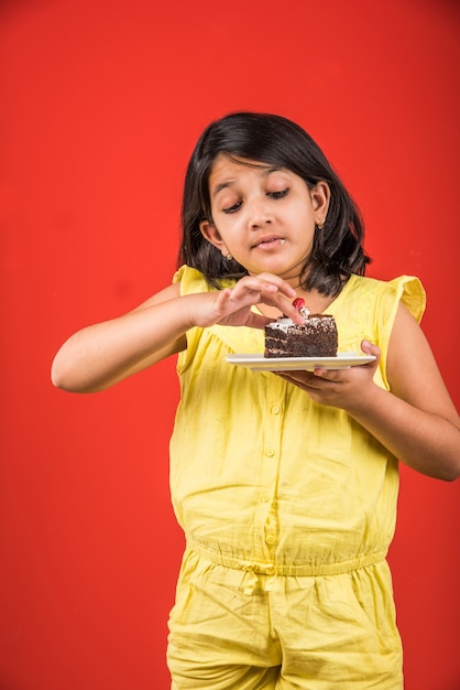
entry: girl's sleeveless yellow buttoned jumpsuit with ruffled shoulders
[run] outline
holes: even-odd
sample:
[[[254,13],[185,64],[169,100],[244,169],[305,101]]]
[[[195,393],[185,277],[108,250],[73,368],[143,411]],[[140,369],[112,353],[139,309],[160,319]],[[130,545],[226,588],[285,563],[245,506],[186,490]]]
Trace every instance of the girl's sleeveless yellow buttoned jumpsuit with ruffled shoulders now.
[[[182,293],[210,290],[182,267]],[[328,308],[339,351],[382,351],[399,301],[419,321],[417,278],[352,276]],[[397,460],[338,408],[267,371],[263,331],[191,328],[178,357],[171,489],[186,552],[169,617],[174,690],[396,690],[402,648],[385,560]]]

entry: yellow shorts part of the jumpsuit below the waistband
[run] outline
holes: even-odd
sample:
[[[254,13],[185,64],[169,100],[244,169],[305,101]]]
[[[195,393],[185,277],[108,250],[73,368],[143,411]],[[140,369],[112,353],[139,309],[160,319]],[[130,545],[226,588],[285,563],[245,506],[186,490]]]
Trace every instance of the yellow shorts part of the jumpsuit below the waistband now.
[[[319,576],[185,553],[169,618],[172,690],[402,690],[385,559]]]

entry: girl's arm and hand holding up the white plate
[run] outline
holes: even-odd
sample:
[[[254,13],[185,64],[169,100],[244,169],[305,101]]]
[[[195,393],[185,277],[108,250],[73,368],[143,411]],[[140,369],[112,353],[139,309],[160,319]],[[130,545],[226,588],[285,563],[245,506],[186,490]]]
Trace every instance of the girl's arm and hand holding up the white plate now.
[[[460,422],[428,342],[401,304],[388,344],[391,391],[373,382],[380,349],[363,343],[371,365],[342,371],[284,376],[322,405],[344,409],[402,462],[421,474],[452,481],[460,475]]]

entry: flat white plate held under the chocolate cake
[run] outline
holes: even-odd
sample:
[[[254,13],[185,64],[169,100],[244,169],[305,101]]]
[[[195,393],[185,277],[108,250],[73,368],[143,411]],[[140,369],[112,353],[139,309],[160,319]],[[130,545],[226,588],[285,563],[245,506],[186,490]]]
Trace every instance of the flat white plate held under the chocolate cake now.
[[[256,371],[313,371],[324,369],[348,369],[373,362],[373,355],[339,353],[337,357],[263,357],[262,355],[227,355],[227,362]]]

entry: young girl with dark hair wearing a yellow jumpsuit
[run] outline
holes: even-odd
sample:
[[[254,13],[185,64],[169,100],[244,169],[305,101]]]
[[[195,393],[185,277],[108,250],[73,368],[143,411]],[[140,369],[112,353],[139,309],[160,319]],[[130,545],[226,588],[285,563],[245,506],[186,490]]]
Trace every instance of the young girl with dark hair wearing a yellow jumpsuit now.
[[[283,117],[237,112],[204,131],[183,229],[173,284],[73,335],[52,371],[97,391],[178,355],[171,487],[187,549],[172,687],[402,688],[385,560],[398,460],[460,472],[459,419],[418,326],[424,290],[364,277],[355,205]],[[296,297],[333,314],[340,352],[375,360],[280,374],[226,360],[263,354],[274,317],[300,322]]]

